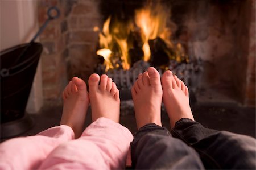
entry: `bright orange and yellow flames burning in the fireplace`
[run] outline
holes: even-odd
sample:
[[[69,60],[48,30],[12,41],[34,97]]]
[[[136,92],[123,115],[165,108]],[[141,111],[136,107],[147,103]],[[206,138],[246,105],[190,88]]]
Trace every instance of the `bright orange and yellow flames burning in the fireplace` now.
[[[171,31],[166,27],[169,14],[170,10],[160,3],[156,5],[148,3],[143,9],[135,11],[134,21],[121,22],[109,16],[104,23],[102,32],[98,28],[94,28],[94,31],[99,31],[100,39],[101,49],[97,51],[97,55],[104,57],[106,71],[118,68],[120,65],[123,69],[130,69],[131,59],[129,51],[134,47],[133,43],[129,42],[129,36],[134,32],[139,33],[141,44],[138,44],[138,46],[143,51],[142,59],[144,61],[150,61],[151,50],[149,41],[156,38],[162,39],[167,48],[174,51],[175,59],[179,58],[182,53],[181,44],[172,44]],[[174,59],[173,52],[165,52],[169,59]]]

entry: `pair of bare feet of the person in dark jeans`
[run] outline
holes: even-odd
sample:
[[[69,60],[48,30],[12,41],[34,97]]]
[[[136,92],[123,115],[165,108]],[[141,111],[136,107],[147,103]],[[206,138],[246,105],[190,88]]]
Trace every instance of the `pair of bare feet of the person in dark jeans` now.
[[[131,94],[138,129],[148,123],[162,126],[162,100],[170,118],[171,128],[181,118],[194,120],[189,105],[188,88],[169,70],[160,78],[154,67],[148,68],[146,72],[139,74]]]

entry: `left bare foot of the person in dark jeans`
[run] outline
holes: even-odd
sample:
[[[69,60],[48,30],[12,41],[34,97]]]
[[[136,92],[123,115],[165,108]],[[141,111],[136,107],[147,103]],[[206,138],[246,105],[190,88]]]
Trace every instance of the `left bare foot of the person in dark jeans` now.
[[[137,81],[131,89],[133,96],[137,128],[148,123],[161,123],[162,86],[160,75],[154,67],[147,69],[147,72],[139,74]]]

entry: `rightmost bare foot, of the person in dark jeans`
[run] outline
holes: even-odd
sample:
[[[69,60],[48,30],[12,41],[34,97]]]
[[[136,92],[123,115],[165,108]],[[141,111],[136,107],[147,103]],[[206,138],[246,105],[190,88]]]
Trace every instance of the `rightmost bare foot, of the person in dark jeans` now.
[[[164,72],[162,76],[163,103],[170,118],[171,128],[181,118],[194,121],[189,105],[188,88],[171,71]]]

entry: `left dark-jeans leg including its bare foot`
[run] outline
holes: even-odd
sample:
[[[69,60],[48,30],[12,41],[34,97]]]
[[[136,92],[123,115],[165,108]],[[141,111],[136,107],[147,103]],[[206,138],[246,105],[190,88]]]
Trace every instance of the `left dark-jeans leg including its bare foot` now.
[[[204,169],[196,151],[172,138],[162,127],[160,107],[163,92],[155,68],[139,74],[131,93],[139,129],[131,143],[133,168]]]

